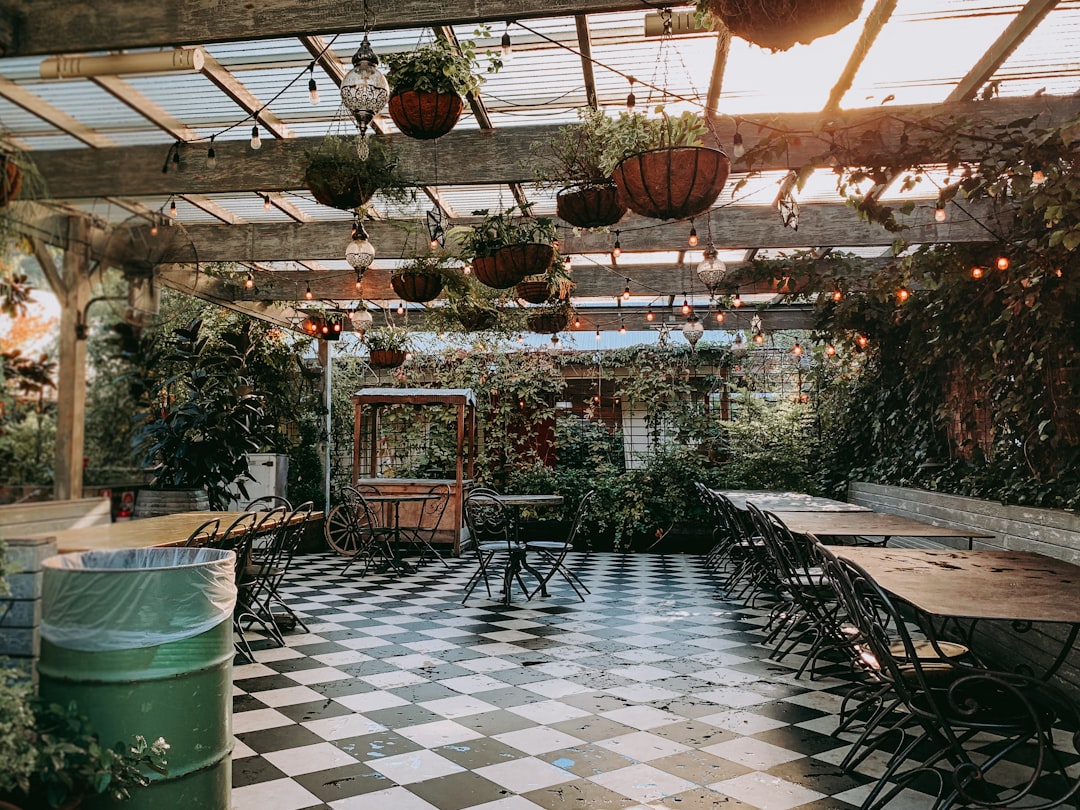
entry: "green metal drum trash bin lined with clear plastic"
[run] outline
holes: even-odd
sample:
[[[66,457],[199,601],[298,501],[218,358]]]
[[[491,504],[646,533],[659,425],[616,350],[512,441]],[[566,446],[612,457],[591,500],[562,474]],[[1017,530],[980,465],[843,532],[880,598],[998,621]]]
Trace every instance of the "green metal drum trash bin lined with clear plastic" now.
[[[42,563],[40,692],[75,701],[103,744],[170,744],[130,810],[228,810],[233,553],[132,549]]]

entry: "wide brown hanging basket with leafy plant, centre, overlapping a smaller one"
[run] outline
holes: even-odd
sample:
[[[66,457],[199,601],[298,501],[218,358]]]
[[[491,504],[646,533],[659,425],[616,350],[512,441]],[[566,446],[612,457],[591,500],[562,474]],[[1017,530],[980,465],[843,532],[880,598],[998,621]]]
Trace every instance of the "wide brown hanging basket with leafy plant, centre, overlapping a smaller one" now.
[[[507,289],[526,275],[546,272],[555,256],[557,231],[551,218],[534,217],[531,207],[512,205],[498,214],[474,211],[483,217],[481,222],[451,229],[471,258],[477,281]]]

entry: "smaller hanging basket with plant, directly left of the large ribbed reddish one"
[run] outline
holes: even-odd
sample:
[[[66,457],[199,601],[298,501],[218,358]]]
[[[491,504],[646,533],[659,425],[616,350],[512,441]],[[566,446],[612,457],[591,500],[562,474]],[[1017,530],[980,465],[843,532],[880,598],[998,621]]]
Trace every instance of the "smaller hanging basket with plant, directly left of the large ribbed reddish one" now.
[[[626,213],[615,180],[603,165],[608,117],[603,110],[583,107],[578,119],[578,123],[561,126],[548,140],[532,145],[532,154],[541,161],[535,177],[542,186],[559,187],[555,210],[565,222],[575,228],[604,228]]]

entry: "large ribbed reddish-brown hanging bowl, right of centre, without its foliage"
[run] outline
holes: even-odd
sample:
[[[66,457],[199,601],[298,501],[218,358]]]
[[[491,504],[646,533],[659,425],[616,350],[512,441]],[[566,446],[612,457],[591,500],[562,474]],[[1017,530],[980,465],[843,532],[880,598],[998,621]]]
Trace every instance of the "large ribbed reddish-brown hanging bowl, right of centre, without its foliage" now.
[[[731,162],[719,149],[677,146],[632,154],[615,167],[619,200],[653,219],[704,214],[728,181]]]

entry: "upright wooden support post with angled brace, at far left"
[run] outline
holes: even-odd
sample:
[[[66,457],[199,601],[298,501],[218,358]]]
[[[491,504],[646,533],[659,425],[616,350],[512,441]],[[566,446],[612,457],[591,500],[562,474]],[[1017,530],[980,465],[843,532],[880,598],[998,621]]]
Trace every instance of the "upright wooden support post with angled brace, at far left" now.
[[[86,419],[86,341],[77,327],[90,300],[89,233],[81,219],[68,220],[63,273],[44,244],[33,253],[60,305],[59,367],[56,379],[56,450],[53,462],[56,500],[82,497],[82,459]]]

